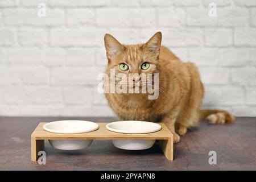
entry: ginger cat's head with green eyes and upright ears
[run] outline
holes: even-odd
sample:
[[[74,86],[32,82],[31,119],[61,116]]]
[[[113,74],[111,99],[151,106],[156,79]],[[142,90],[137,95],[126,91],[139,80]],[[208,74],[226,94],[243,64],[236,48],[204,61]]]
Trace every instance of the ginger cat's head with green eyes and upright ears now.
[[[131,82],[135,84],[141,82],[141,78],[138,77],[141,73],[154,74],[160,72],[161,32],[156,32],[144,44],[124,45],[110,34],[105,35],[104,42],[108,59],[107,73],[110,72],[110,69],[114,69],[116,75],[118,73],[126,74],[127,80],[129,75],[134,75],[130,77],[129,84]]]

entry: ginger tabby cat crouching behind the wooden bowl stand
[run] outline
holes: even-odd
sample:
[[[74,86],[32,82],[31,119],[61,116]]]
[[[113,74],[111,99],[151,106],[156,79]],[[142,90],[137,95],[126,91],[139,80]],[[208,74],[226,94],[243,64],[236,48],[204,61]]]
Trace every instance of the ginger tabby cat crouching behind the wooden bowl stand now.
[[[124,74],[159,73],[159,96],[155,100],[148,100],[147,93],[105,93],[119,119],[162,121],[174,134],[174,143],[180,141],[179,135],[187,133],[189,127],[196,127],[200,119],[206,118],[212,124],[234,121],[234,116],[225,110],[200,110],[204,86],[199,71],[195,64],[182,62],[161,46],[161,32],[144,44],[123,45],[109,34],[104,41],[107,75],[110,76],[110,69]],[[129,81],[138,80],[132,77]]]

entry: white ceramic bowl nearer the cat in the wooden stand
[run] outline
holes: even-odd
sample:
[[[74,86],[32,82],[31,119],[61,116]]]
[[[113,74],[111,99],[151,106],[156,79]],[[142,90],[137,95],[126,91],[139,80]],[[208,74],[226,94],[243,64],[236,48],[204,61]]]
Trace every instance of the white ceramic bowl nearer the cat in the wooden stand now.
[[[144,134],[153,133],[162,129],[161,125],[146,121],[117,121],[108,123],[106,129],[117,133]],[[155,140],[112,140],[117,148],[126,150],[144,150],[151,148]]]

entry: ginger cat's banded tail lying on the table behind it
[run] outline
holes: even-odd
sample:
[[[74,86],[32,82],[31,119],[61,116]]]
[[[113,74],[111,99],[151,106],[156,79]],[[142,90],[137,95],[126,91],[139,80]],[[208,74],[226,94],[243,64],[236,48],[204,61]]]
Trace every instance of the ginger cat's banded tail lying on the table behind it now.
[[[212,124],[233,123],[234,115],[225,110],[200,110],[200,119],[207,119]]]

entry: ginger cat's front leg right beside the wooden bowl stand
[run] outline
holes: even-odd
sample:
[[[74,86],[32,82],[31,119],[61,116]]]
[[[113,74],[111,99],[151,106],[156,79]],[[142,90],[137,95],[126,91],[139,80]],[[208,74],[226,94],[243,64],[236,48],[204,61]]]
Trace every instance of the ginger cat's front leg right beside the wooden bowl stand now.
[[[178,111],[171,111],[163,116],[162,122],[166,124],[168,129],[174,135],[174,143],[178,143],[180,141],[180,136],[175,132],[175,122],[177,118]]]

